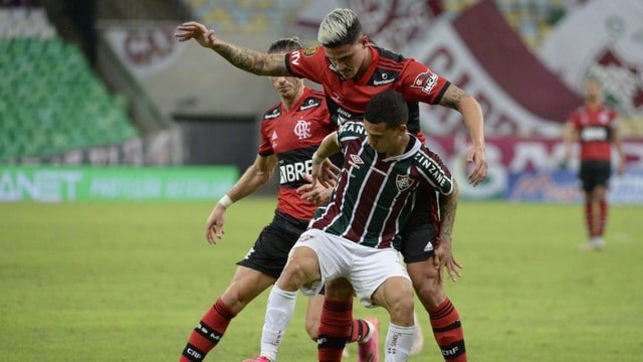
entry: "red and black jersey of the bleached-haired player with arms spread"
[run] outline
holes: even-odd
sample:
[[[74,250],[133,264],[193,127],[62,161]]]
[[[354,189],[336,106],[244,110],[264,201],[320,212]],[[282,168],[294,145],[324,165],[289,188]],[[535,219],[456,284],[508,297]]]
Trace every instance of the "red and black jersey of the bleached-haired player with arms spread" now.
[[[424,141],[420,130],[418,102],[437,104],[449,82],[424,64],[398,53],[370,46],[372,62],[358,81],[345,79],[332,66],[323,46],[300,49],[285,55],[293,75],[323,86],[331,119],[337,125],[363,119],[368,101],[381,91],[393,88],[401,93],[409,109],[408,130]]]

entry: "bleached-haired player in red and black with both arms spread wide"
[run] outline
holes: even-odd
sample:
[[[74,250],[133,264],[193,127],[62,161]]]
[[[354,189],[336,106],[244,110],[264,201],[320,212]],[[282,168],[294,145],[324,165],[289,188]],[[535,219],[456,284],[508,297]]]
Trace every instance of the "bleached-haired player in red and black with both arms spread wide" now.
[[[323,19],[318,41],[323,45],[292,52],[285,57],[256,52],[226,43],[203,24],[189,22],[178,27],[179,41],[195,39],[211,48],[241,70],[257,75],[296,75],[323,85],[331,117],[337,124],[361,120],[375,94],[399,91],[409,108],[408,131],[422,140],[417,102],[440,104],[459,111],[469,129],[472,145],[467,161],[473,162],[469,182],[476,186],[487,174],[484,117],[478,102],[455,84],[440,77],[424,64],[374,46],[361,30],[355,12],[335,9]],[[418,195],[426,200],[429,195]],[[442,271],[453,262],[451,240],[429,243],[428,202],[417,202],[413,218],[402,232],[401,252],[407,263],[413,288],[430,315],[433,335],[449,361],[466,361],[464,332],[460,316],[442,288]],[[457,269],[448,269],[452,280]],[[458,354],[451,350],[457,347]]]

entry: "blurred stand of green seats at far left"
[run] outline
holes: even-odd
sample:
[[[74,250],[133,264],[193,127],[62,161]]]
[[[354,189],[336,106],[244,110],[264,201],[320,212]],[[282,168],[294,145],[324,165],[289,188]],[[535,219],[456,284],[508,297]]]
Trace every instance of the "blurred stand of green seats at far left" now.
[[[0,19],[0,159],[136,137],[127,101],[107,92],[78,46],[57,36],[44,9],[13,2],[0,8]]]

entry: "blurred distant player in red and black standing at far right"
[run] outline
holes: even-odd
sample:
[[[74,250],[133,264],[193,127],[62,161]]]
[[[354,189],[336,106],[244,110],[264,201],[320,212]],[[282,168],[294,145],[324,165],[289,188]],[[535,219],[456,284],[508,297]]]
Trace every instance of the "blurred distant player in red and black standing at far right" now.
[[[585,221],[589,241],[583,249],[601,249],[607,222],[606,193],[611,173],[611,142],[619,154],[617,172],[625,171],[625,156],[616,125],[616,111],[605,106],[601,98],[601,84],[589,78],[584,84],[583,106],[575,110],[568,122],[565,140],[565,160],[570,157],[572,144],[581,143],[581,169],[579,178],[585,194]]]

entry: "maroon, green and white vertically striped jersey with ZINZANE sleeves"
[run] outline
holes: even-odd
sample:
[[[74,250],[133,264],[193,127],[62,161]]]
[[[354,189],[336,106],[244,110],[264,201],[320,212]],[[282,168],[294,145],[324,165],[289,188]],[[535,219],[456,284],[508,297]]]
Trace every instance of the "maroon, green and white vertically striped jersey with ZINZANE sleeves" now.
[[[413,136],[402,155],[389,158],[368,144],[361,122],[341,125],[338,140],[343,169],[331,202],[316,211],[313,229],[388,248],[406,224],[419,187],[434,195],[453,191],[449,169]]]

